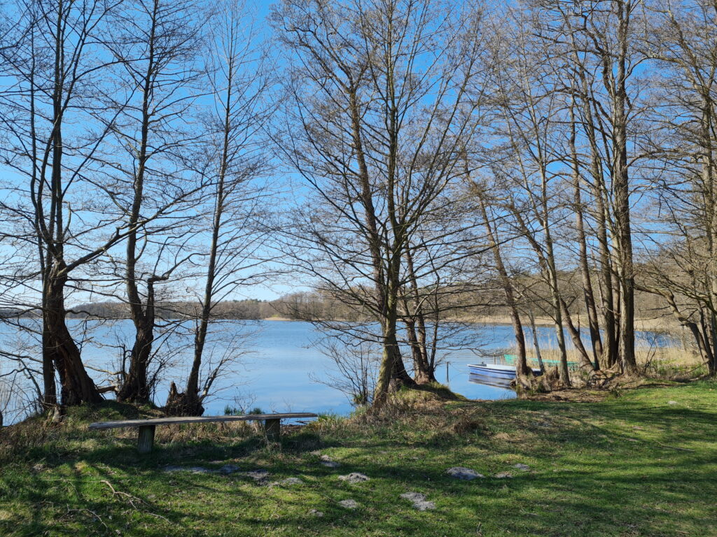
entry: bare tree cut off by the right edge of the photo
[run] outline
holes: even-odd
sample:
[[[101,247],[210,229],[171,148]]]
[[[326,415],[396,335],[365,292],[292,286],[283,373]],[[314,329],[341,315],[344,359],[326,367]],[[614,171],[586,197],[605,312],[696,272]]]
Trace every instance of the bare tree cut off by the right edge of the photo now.
[[[717,11],[713,1],[649,4],[650,54],[666,70],[660,97],[665,162],[657,208],[671,240],[658,245],[640,289],[663,296],[717,374]],[[668,261],[669,260],[669,261]]]

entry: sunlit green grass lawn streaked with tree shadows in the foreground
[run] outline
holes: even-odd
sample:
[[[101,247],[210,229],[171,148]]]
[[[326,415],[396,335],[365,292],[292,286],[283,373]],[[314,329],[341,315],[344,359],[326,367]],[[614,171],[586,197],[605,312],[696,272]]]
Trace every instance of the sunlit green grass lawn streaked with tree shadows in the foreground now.
[[[75,411],[36,447],[5,452],[1,536],[717,536],[711,382],[600,402],[411,395],[385,420],[321,420],[272,449],[247,427],[158,427],[148,456],[131,432],[85,430],[125,410]],[[224,464],[239,472],[165,471]],[[455,480],[452,466],[485,478]],[[301,483],[261,484],[245,470]],[[370,479],[338,479],[351,472]],[[503,472],[513,478],[493,477]],[[435,509],[417,511],[406,492]]]

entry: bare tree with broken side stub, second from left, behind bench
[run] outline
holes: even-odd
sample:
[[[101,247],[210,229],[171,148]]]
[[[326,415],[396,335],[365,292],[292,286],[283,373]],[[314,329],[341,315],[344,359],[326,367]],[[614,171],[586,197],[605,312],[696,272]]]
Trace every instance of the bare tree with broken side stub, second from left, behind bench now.
[[[113,20],[108,46],[118,62],[121,100],[111,125],[117,151],[103,167],[113,169],[113,203],[129,230],[123,263],[115,270],[123,273],[135,326],[118,400],[149,400],[156,286],[186,261],[187,220],[194,216],[191,203],[201,183],[195,185],[184,155],[199,135],[187,125],[204,80],[205,15],[193,0],[125,1]],[[158,218],[139,225],[147,213]]]

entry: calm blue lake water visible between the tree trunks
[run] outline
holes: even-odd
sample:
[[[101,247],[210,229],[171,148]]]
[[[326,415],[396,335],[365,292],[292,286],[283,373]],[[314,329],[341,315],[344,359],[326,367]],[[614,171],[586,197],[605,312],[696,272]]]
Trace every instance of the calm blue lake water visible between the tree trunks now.
[[[68,320],[74,332],[79,334],[83,321]],[[130,321],[115,321],[112,324],[97,324],[97,321],[87,321],[92,334],[90,339],[82,343],[82,357],[92,368],[111,370],[117,363],[122,345],[129,344],[129,337],[133,334]],[[93,325],[93,326],[92,326]],[[205,403],[206,415],[220,415],[224,413],[227,405],[242,405],[260,407],[272,412],[332,412],[346,415],[352,407],[346,396],[335,388],[317,382],[328,380],[331,374],[336,374],[336,366],[330,358],[313,347],[313,342],[319,334],[313,326],[301,321],[223,321],[215,338],[242,339],[246,334],[252,334],[250,339],[240,345],[250,349],[250,353],[242,356],[239,364],[233,367],[227,376],[219,379],[214,385],[214,396]],[[471,349],[480,347],[481,352],[502,352],[503,349],[513,345],[513,329],[511,326],[475,324],[468,328],[472,333],[470,339],[475,342],[470,348],[443,352],[445,364],[437,371],[440,382],[448,384],[451,390],[465,395],[470,399],[495,400],[515,397],[512,390],[503,387],[488,386],[470,382],[466,364],[483,361]],[[551,347],[555,341],[555,332],[551,327],[540,327],[539,338],[543,347]],[[16,338],[16,334],[14,334]],[[13,334],[4,333],[4,342],[9,342]],[[642,334],[642,339],[650,338],[649,334]],[[163,374],[166,382],[162,382],[155,395],[155,402],[163,405],[166,401],[168,384],[171,380],[177,381],[181,389],[181,382],[186,378],[186,371],[191,362],[191,352],[188,348],[181,349],[177,340],[181,338],[169,337],[167,348],[176,347],[174,364],[168,367]],[[186,338],[185,344],[189,344]],[[665,341],[659,338],[653,344],[663,345]],[[222,344],[214,345],[214,352],[222,352]],[[530,349],[531,347],[529,347]],[[206,356],[212,359],[211,349]],[[218,359],[215,355],[213,359]],[[409,364],[407,364],[409,367]],[[90,370],[95,379],[103,374]],[[9,417],[9,416],[8,416]]]

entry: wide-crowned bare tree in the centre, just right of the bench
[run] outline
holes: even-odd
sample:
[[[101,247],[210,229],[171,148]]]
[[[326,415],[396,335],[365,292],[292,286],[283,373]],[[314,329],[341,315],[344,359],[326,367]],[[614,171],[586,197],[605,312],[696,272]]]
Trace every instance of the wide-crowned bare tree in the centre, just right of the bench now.
[[[380,334],[335,328],[380,342],[381,405],[389,386],[414,383],[397,328],[407,248],[460,177],[480,16],[430,0],[287,0],[272,19],[289,49],[280,147],[308,186],[284,251],[323,293],[378,323]]]

